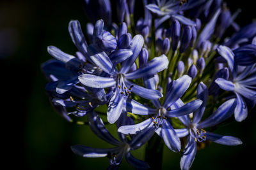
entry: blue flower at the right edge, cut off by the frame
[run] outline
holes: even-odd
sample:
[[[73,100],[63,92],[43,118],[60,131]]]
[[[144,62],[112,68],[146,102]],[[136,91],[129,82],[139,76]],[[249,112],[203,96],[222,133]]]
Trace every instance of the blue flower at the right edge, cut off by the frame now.
[[[237,66],[235,56],[232,50],[227,46],[219,46],[218,52],[227,60],[228,67],[232,76],[230,80],[224,78],[217,78],[215,82],[221,89],[234,92],[237,98],[237,106],[235,110],[235,118],[241,122],[247,117],[248,109],[244,101],[244,97],[250,100],[256,99],[256,65],[251,66]]]

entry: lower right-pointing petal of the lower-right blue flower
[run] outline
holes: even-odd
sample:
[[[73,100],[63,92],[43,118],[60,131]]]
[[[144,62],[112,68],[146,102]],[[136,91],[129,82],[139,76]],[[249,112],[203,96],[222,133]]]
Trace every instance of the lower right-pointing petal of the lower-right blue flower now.
[[[205,135],[207,140],[213,141],[215,143],[220,143],[221,145],[236,146],[243,143],[240,139],[233,136],[222,136],[220,134],[214,134],[212,132],[206,132]]]

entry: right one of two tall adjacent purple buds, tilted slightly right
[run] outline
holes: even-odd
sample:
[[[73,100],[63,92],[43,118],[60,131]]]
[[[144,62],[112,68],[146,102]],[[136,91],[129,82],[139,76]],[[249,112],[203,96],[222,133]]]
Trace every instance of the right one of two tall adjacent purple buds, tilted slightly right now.
[[[192,38],[191,27],[190,26],[184,27],[184,30],[182,32],[182,37],[180,40],[180,53],[183,53],[188,49],[191,38]]]

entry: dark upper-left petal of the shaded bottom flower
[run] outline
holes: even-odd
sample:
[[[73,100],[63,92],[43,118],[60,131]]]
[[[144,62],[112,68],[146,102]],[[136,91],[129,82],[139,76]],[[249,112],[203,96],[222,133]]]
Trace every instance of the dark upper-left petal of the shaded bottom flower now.
[[[97,115],[97,113],[95,113],[94,111],[92,111],[91,113],[88,113],[88,122],[90,125],[90,128],[92,129],[92,131],[102,140],[111,143],[112,145],[120,145],[121,142],[118,141],[117,139],[115,139],[108,131],[108,129],[106,129],[103,121],[101,120],[101,118],[99,117],[99,115]]]

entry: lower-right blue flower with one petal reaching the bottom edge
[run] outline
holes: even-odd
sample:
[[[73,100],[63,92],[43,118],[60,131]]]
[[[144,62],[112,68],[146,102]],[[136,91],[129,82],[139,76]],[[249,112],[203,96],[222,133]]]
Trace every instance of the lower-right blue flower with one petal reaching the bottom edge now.
[[[234,112],[236,107],[236,99],[230,99],[210,115],[208,118],[200,122],[205,111],[207,104],[208,90],[204,83],[200,83],[197,89],[197,99],[203,101],[198,110],[193,113],[193,120],[188,115],[179,117],[180,121],[186,126],[184,129],[175,129],[179,138],[187,136],[187,144],[180,160],[180,168],[183,170],[189,169],[193,164],[196,155],[196,142],[202,142],[205,140],[220,143],[222,145],[241,145],[242,142],[238,138],[232,136],[221,136],[220,134],[214,134],[212,132],[205,131],[207,127],[218,125],[227,118],[229,118]],[[176,103],[176,107],[182,106],[182,101]],[[163,134],[162,134],[163,135]]]

